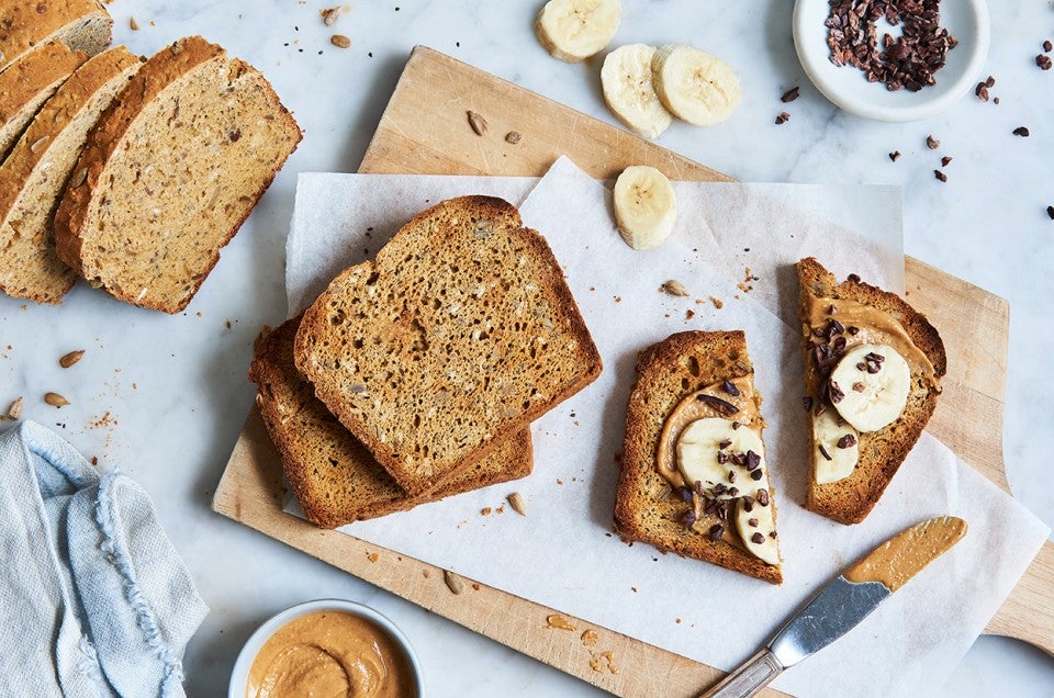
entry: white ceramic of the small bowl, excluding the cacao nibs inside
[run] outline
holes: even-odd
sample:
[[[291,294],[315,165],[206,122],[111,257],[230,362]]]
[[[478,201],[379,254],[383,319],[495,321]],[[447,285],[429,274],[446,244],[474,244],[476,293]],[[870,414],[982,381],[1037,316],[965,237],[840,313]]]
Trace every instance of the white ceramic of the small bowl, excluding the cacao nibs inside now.
[[[918,92],[890,92],[881,82],[868,82],[853,66],[836,66],[828,56],[828,0],[797,0],[794,5],[794,47],[809,80],[823,95],[846,112],[878,121],[917,121],[937,114],[976,87],[988,56],[988,5],[985,0],[942,0],[941,26],[958,40],[948,52],[946,64],[934,74],[937,85]],[[879,25],[879,36],[882,36]]]

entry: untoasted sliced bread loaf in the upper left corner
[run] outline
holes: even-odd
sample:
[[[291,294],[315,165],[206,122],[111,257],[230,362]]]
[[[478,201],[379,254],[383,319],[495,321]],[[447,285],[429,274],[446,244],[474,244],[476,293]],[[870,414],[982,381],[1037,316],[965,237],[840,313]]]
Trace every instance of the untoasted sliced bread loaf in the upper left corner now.
[[[220,46],[144,63],[100,53],[111,26],[98,0],[0,0],[0,290],[59,303],[79,275],[177,313],[301,132]]]

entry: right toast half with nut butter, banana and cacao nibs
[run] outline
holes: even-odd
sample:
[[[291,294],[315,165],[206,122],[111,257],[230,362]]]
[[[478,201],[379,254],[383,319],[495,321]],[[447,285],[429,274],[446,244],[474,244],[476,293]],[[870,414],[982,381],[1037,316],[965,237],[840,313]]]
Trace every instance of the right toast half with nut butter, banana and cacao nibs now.
[[[799,261],[797,270],[810,427],[807,506],[836,521],[859,524],[878,502],[933,414],[946,369],[944,344],[926,317],[898,295],[854,275],[838,283],[811,257]],[[859,360],[853,358],[861,351],[857,347],[867,347],[864,350],[868,352]],[[890,356],[894,352],[902,363]],[[845,357],[854,364],[846,367],[854,378],[840,384],[832,374],[845,374],[839,370]],[[894,364],[902,367],[904,381],[895,380]],[[899,413],[896,406],[888,413],[889,417],[899,415],[893,421],[871,430],[884,419],[866,425],[856,418],[866,410],[865,421],[873,423],[874,414],[887,409],[897,390],[907,396]],[[852,414],[848,414],[850,408]]]

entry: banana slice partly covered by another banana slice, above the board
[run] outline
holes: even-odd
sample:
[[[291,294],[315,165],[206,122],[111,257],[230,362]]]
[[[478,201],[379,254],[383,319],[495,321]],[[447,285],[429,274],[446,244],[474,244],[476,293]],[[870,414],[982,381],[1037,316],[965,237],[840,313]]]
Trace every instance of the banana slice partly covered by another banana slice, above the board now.
[[[607,54],[601,68],[604,101],[620,122],[644,138],[658,138],[673,121],[651,83],[654,55],[654,46],[627,44]]]

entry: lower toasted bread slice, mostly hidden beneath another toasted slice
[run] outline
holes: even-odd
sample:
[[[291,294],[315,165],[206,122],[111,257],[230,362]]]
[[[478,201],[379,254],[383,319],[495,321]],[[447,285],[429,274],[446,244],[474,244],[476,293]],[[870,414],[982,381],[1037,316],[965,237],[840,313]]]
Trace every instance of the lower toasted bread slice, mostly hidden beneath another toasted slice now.
[[[475,465],[426,495],[410,496],[315,397],[293,362],[300,317],[261,336],[249,367],[256,403],[307,519],[336,528],[530,474],[530,430],[501,440]]]

